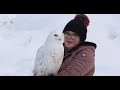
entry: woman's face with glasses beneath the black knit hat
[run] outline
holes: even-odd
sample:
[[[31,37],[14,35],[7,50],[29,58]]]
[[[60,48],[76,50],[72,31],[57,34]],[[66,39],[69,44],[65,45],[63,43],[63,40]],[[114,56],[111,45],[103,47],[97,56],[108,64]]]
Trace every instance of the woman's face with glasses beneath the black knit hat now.
[[[80,43],[80,37],[78,34],[72,31],[66,31],[64,33],[64,44],[68,49],[71,49]]]

